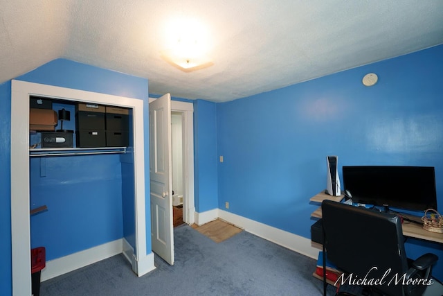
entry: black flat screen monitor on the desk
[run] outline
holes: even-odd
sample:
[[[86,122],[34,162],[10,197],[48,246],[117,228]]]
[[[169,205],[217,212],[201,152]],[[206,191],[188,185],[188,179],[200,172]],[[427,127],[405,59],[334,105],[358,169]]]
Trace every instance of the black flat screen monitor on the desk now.
[[[432,166],[343,166],[343,185],[352,202],[437,210]]]

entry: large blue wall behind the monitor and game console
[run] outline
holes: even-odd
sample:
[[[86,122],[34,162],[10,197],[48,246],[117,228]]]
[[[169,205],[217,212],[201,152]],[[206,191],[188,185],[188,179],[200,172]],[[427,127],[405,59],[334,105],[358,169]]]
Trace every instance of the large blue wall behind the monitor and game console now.
[[[310,238],[327,155],[345,165],[435,166],[443,209],[443,46],[217,104],[218,207]],[[379,82],[361,79],[374,72]],[[270,73],[271,75],[271,73]],[[412,239],[408,251],[429,245]],[[431,244],[443,259],[443,245]],[[435,268],[443,279],[442,260]]]

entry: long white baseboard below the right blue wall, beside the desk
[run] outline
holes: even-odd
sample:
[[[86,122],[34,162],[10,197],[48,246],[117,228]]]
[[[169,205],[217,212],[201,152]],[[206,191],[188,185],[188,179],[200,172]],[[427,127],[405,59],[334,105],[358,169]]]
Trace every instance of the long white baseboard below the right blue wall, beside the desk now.
[[[218,209],[218,217],[222,220],[226,220],[228,223],[232,223],[244,230],[260,236],[282,247],[286,247],[289,250],[293,250],[312,259],[318,258],[318,249],[311,246],[311,240],[297,234],[291,234],[291,232],[285,232],[282,229],[278,229],[255,220],[244,218],[242,216],[230,213]]]

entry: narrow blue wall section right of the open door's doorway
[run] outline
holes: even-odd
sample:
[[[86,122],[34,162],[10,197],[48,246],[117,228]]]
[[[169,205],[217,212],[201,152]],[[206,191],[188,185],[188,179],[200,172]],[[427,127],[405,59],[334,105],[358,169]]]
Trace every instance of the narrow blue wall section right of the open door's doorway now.
[[[194,101],[195,210],[217,209],[217,105]]]

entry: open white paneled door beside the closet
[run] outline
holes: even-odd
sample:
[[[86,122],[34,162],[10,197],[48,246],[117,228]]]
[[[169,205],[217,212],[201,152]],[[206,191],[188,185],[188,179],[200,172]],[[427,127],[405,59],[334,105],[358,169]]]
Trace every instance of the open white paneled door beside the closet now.
[[[174,264],[172,227],[171,96],[150,103],[152,251]]]

